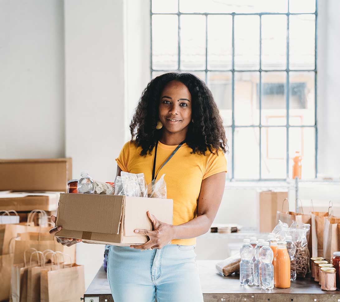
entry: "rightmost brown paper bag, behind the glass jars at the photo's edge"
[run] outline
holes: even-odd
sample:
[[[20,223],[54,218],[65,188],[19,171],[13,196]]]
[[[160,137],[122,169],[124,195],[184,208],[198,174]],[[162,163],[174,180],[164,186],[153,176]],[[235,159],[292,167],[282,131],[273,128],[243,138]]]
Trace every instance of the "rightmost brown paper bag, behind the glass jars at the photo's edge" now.
[[[330,261],[333,252],[340,251],[340,218],[327,217],[323,228],[323,257]]]

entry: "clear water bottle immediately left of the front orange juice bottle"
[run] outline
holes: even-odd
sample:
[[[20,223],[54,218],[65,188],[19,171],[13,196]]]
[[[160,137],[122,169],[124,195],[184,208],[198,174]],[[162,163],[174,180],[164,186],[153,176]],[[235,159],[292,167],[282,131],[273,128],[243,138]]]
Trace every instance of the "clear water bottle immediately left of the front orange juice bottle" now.
[[[259,251],[259,283],[262,289],[272,289],[274,287],[274,266],[272,264],[274,254],[269,246],[269,242],[263,242]]]

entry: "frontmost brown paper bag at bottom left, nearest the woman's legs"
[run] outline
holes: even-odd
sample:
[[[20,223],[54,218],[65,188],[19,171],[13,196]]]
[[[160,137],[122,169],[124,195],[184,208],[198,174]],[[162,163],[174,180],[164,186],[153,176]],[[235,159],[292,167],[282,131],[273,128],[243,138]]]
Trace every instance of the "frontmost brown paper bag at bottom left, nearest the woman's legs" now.
[[[41,270],[40,301],[74,302],[79,301],[85,292],[84,266]]]

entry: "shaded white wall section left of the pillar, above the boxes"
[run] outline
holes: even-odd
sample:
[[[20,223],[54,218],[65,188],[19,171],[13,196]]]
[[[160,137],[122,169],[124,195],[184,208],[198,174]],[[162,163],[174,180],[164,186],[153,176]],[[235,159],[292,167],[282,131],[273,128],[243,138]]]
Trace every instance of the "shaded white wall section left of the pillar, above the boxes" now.
[[[1,0],[0,28],[0,158],[63,157],[63,1]]]

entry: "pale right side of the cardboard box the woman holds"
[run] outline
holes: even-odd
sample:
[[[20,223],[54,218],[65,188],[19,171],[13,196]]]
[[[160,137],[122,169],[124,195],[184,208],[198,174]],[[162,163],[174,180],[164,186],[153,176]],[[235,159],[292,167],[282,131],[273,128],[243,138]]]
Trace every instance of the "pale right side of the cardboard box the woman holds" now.
[[[152,230],[152,222],[147,214],[149,210],[158,220],[172,224],[172,199],[125,197],[124,236],[138,236],[135,229]]]

